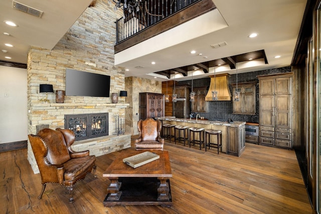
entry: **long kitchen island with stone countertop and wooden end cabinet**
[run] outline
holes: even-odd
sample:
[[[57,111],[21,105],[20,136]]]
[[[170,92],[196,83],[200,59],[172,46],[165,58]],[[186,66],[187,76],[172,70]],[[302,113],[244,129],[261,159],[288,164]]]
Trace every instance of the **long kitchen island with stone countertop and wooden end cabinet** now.
[[[162,123],[183,125],[189,127],[214,129],[222,131],[222,151],[226,154],[240,156],[245,148],[245,122],[211,121],[184,119],[176,117],[156,117]],[[213,138],[214,139],[214,138]],[[212,139],[212,142],[213,142]],[[215,141],[214,141],[215,142]]]

